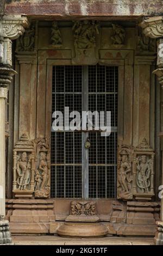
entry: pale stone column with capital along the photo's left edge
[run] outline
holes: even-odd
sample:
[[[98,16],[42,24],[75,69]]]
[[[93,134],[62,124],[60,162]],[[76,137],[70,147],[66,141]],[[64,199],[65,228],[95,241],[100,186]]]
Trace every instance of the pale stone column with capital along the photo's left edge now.
[[[0,20],[0,245],[11,244],[9,222],[5,220],[5,100],[9,84],[16,72],[12,66],[12,39],[28,27],[26,17],[3,16]]]

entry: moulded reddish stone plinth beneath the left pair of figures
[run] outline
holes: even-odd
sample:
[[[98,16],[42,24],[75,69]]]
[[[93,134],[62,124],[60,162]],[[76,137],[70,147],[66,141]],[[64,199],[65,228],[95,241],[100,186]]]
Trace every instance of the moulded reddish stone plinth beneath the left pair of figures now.
[[[7,216],[11,233],[46,234],[55,221],[53,200],[8,199]]]

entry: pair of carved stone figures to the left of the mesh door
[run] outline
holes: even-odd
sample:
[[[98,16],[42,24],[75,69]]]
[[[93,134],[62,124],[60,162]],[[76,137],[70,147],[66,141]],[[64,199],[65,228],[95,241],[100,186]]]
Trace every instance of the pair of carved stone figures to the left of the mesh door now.
[[[29,142],[23,135],[14,149],[15,194],[35,194],[48,197],[50,191],[49,144],[47,139],[37,138]]]

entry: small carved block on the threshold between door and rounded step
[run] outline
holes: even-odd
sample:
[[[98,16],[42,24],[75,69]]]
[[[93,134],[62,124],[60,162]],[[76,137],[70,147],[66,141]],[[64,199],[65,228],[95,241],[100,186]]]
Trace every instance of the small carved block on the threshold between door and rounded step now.
[[[96,202],[73,201],[71,203],[71,215],[96,215]]]

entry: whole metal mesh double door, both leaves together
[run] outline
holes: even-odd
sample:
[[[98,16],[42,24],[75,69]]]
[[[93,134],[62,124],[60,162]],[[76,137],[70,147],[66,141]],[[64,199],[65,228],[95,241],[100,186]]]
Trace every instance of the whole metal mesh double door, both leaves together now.
[[[54,66],[52,112],[64,113],[65,106],[81,116],[82,110],[111,111],[112,132],[52,132],[52,198],[116,197],[117,84],[117,67]],[[90,149],[84,148],[86,138]]]

